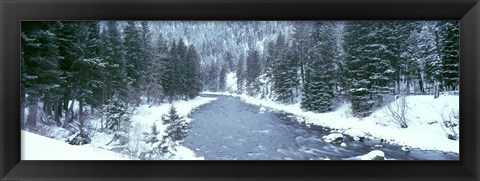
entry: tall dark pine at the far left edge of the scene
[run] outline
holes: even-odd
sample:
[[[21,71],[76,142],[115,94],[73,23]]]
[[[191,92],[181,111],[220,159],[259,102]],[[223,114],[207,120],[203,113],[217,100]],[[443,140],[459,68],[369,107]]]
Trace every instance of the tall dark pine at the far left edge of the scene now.
[[[34,128],[40,100],[56,99],[60,92],[58,36],[53,31],[57,22],[22,22],[21,60],[22,94],[29,109],[26,123]]]

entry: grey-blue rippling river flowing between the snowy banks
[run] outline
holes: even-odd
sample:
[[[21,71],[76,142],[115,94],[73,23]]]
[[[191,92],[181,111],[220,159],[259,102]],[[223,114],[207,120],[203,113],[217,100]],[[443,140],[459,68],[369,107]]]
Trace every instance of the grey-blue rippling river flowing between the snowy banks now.
[[[207,96],[207,95],[203,95]],[[455,153],[401,150],[401,146],[380,140],[344,139],[342,147],[323,141],[328,128],[306,126],[282,112],[265,111],[230,96],[195,110],[184,145],[206,160],[342,160],[381,150],[386,159],[458,160]]]

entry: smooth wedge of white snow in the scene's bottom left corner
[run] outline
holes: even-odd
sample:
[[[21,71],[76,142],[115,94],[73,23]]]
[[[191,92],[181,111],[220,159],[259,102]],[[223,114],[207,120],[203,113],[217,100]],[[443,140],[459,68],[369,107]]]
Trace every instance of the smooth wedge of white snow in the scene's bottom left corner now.
[[[21,131],[22,160],[128,160],[92,145],[74,146],[28,131]]]

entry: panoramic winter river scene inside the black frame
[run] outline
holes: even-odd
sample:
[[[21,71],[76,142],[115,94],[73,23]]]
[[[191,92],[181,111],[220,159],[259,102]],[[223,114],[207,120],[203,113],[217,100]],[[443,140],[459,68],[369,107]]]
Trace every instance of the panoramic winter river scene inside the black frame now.
[[[458,21],[22,21],[22,160],[455,160]]]

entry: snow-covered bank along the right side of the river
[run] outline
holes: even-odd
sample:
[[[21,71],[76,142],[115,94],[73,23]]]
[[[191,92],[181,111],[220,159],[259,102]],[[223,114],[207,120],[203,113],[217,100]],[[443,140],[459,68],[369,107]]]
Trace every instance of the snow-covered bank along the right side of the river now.
[[[360,119],[352,116],[349,103],[342,104],[332,112],[314,113],[311,111],[303,111],[299,103],[285,105],[258,97],[255,98],[244,94],[237,95],[227,92],[203,92],[203,94],[232,95],[239,97],[242,101],[249,104],[284,111],[302,117],[303,119],[300,119],[300,121],[306,124],[329,127],[336,129],[335,132],[343,132],[344,134],[355,134],[352,135],[353,137],[359,136],[359,134],[361,135],[363,132],[367,138],[384,139],[392,144],[423,150],[440,150],[459,153],[459,141],[448,139],[440,124],[437,123],[442,121],[442,114],[448,115],[452,111],[458,112],[458,95],[441,95],[437,99],[434,99],[431,95],[407,96],[408,128],[400,128],[391,121],[384,108],[379,108],[369,117]]]

